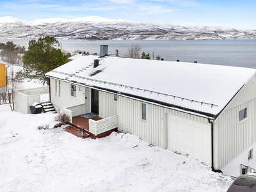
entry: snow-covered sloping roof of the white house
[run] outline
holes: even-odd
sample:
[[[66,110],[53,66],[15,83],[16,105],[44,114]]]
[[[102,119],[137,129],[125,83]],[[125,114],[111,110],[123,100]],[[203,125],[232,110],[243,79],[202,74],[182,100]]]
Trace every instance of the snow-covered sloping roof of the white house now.
[[[218,115],[256,69],[80,55],[47,77],[94,86],[127,97],[205,116]]]

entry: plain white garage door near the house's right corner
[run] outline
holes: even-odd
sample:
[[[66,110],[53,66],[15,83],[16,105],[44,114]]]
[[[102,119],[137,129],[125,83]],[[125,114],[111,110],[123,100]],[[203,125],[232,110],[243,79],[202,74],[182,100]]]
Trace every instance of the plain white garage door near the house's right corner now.
[[[168,148],[211,164],[211,125],[168,115]]]

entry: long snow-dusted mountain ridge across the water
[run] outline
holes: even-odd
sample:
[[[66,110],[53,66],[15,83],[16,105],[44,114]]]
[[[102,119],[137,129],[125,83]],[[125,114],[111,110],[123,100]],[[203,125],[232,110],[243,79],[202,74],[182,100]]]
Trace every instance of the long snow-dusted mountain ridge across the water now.
[[[103,17],[79,19],[40,19],[28,22],[0,17],[0,38],[38,38],[40,36],[83,40],[219,40],[256,38],[255,29],[112,20]]]

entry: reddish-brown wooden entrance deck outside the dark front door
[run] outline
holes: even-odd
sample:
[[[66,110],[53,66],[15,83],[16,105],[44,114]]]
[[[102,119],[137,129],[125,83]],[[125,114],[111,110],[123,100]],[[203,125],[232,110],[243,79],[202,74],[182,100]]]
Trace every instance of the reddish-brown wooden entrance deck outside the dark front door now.
[[[100,118],[99,116],[95,116],[91,119],[97,121],[97,120],[101,120],[102,118]],[[96,139],[96,138],[103,138],[103,137],[109,136],[111,132],[117,131],[117,128],[112,129],[110,131],[103,132],[102,134],[95,136],[95,134],[92,134],[91,132],[89,132],[89,118],[84,118],[82,116],[74,116],[72,118],[72,124],[66,127],[65,131],[70,132],[71,134],[74,134],[79,138],[84,139],[84,138],[90,137],[92,139]],[[84,132],[84,136],[82,136],[82,131]]]

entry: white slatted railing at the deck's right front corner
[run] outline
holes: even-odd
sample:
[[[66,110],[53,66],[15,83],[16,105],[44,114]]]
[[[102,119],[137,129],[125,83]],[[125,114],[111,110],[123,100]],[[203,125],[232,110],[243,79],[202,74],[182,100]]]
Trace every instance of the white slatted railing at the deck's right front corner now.
[[[89,131],[95,134],[109,131],[118,127],[118,115],[109,116],[101,120],[89,120]]]

